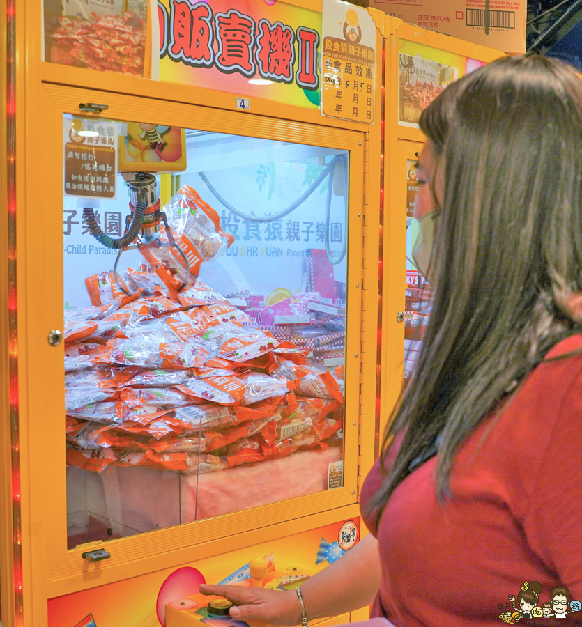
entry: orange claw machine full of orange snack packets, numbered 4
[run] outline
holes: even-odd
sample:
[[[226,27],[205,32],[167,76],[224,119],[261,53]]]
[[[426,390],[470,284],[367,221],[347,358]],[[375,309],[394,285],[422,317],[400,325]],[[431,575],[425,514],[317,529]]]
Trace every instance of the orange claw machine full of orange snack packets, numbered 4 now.
[[[365,533],[387,22],[2,7],[2,624],[228,622]]]

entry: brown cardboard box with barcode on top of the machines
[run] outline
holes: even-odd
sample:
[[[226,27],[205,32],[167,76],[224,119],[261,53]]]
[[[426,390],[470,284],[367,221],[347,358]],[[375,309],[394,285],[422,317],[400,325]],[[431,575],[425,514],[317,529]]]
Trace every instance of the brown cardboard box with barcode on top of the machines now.
[[[526,52],[526,0],[368,0],[368,6],[507,54]]]

